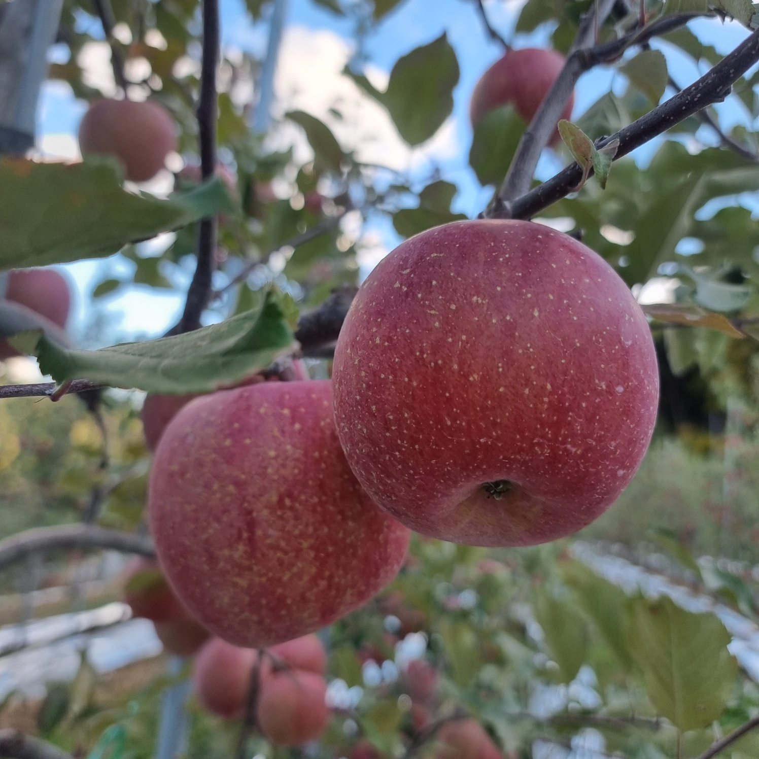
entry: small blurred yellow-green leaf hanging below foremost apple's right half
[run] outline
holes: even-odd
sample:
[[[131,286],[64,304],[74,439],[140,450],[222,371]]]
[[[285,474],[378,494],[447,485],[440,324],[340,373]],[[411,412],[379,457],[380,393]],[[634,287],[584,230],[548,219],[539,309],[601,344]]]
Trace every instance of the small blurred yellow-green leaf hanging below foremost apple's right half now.
[[[568,603],[546,591],[535,594],[533,609],[546,636],[546,647],[559,665],[563,681],[572,682],[585,663],[587,625],[584,619]]]

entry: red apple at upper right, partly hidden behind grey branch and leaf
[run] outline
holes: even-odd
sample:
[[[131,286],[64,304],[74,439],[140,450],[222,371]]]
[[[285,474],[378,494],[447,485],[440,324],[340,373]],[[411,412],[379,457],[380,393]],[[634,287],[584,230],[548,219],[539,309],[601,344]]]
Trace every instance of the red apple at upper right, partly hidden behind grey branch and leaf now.
[[[484,115],[509,103],[529,124],[563,67],[564,56],[555,50],[509,50],[482,75],[474,87],[469,104],[472,125],[476,126]],[[574,104],[575,96],[572,94],[560,118],[571,118]],[[559,132],[556,131],[552,142],[558,138]]]

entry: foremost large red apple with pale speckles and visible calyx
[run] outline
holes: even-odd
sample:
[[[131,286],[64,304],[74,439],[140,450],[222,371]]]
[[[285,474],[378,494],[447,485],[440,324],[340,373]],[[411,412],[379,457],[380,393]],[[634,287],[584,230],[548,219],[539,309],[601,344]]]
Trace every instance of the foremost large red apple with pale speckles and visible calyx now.
[[[407,527],[526,546],[600,516],[638,469],[659,377],[641,308],[580,242],[521,221],[400,244],[335,349],[335,422],[374,502]]]

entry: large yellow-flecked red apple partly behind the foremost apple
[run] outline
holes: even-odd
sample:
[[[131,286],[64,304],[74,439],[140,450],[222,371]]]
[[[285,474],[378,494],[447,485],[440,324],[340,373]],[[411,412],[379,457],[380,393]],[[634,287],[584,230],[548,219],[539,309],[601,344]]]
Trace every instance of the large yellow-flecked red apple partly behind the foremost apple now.
[[[269,646],[328,625],[403,562],[408,530],[351,474],[331,400],[327,380],[216,392],[182,408],[156,450],[148,509],[161,565],[230,643]]]

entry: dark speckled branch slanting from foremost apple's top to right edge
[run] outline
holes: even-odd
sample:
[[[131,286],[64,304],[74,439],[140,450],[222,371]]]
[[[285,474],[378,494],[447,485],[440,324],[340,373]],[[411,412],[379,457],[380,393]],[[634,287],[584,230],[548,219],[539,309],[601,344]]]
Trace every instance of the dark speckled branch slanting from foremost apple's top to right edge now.
[[[635,148],[652,140],[653,137],[685,121],[688,116],[725,99],[730,93],[732,84],[757,61],[759,61],[759,30],[714,65],[701,79],[685,87],[680,93],[610,137],[597,140],[597,147],[608,145],[612,140],[619,140],[614,159],[626,156]],[[582,169],[577,163],[572,163],[550,180],[511,203],[500,203],[498,207],[491,209],[489,216],[494,219],[531,219],[552,203],[572,193],[581,178]]]

